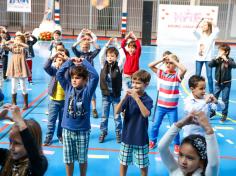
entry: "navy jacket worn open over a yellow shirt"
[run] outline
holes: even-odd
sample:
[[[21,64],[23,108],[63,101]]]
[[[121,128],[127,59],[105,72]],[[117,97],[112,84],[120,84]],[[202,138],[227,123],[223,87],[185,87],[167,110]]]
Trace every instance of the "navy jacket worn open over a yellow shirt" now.
[[[52,66],[52,59],[48,59],[46,61],[46,63],[44,64],[44,70],[47,72],[47,74],[49,74],[51,76],[51,81],[48,85],[48,94],[50,96],[53,96],[53,93],[56,89],[56,85],[57,85],[57,78],[56,78],[56,74],[58,69]]]

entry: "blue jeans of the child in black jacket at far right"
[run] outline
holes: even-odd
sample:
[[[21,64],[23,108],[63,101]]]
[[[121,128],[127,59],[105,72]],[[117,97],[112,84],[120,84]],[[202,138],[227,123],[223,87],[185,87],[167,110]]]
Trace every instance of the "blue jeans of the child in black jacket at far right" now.
[[[214,95],[218,99],[220,92],[222,91],[222,101],[225,103],[225,108],[222,110],[222,114],[228,115],[228,107],[229,107],[229,94],[230,94],[231,82],[225,84],[215,84],[215,92]]]

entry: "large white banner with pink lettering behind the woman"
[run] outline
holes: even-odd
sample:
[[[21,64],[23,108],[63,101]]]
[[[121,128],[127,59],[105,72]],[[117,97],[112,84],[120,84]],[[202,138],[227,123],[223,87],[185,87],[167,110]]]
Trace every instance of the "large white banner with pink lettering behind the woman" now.
[[[193,42],[194,28],[202,18],[217,24],[217,6],[160,5],[158,11],[158,45],[186,45]]]

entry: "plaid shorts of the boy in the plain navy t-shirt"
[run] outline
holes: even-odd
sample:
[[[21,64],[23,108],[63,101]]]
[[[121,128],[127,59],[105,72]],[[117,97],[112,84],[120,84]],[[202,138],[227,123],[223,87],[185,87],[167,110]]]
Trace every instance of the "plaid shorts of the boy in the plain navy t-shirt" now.
[[[148,152],[148,144],[137,146],[122,142],[119,155],[120,164],[128,166],[134,163],[140,169],[146,168],[149,166]]]

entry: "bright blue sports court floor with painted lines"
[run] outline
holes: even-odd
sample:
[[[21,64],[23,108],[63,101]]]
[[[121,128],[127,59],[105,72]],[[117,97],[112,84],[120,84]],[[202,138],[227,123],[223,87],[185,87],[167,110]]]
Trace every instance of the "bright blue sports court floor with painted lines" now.
[[[99,41],[101,46],[104,45],[104,41]],[[69,49],[72,45],[71,40],[66,41],[66,47]],[[37,57],[33,60],[33,81],[34,85],[28,85],[29,91],[29,102],[30,108],[23,112],[23,115],[26,119],[34,118],[36,119],[42,127],[43,130],[43,139],[46,133],[46,125],[47,125],[47,115],[45,112],[47,111],[48,106],[48,96],[47,96],[47,84],[49,82],[49,76],[43,70],[43,64],[46,61],[46,56],[48,55],[47,51],[48,43],[41,44],[40,47],[36,47]],[[188,73],[186,75],[185,80],[182,83],[181,87],[181,98],[179,101],[179,117],[182,116],[182,107],[183,107],[183,99],[187,96],[188,88],[187,88],[187,79],[188,77],[194,73],[194,62],[187,58],[187,55],[190,52],[186,48],[170,48],[171,51],[180,53],[181,61],[183,63],[187,63],[186,67],[188,68]],[[187,50],[187,51],[186,51]],[[40,52],[40,56],[39,56]],[[72,53],[71,53],[72,54]],[[151,73],[151,70],[148,69],[147,65],[153,59],[157,58],[160,54],[157,51],[157,47],[154,46],[143,46],[142,47],[142,55],[140,59],[140,67],[142,69],[146,69]],[[236,59],[236,47],[232,47],[231,56]],[[98,71],[100,71],[98,57],[95,58],[95,67]],[[229,118],[224,124],[219,122],[219,116],[216,116],[211,123],[215,129],[215,133],[217,135],[218,143],[220,145],[220,175],[232,175],[233,172],[236,171],[236,70],[233,70],[233,81],[231,87],[231,95],[230,95],[230,105],[229,105]],[[10,81],[4,82],[4,94],[6,95],[5,102],[10,102],[10,90],[11,84]],[[156,97],[156,79],[155,74],[152,73],[152,79],[150,85],[147,89],[147,92],[153,100]],[[96,90],[97,95],[97,110],[99,112],[99,117],[101,117],[101,92],[98,87]],[[23,98],[21,96],[21,91],[18,91],[18,100],[19,106],[22,107]],[[112,114],[112,112],[111,112]],[[112,115],[111,115],[112,116]],[[151,126],[150,117],[150,124]],[[115,140],[115,131],[114,131],[114,122],[113,117],[110,118],[109,123],[109,132],[108,136],[104,143],[98,143],[99,137],[99,119],[93,119],[91,117],[91,136],[90,136],[90,144],[89,144],[89,159],[88,159],[88,176],[116,176],[119,175],[119,144],[116,143]],[[8,148],[8,135],[7,131],[10,129],[11,125],[6,125],[5,122],[0,122],[0,147]],[[168,129],[169,123],[167,119],[164,119],[164,122],[160,129],[159,138],[165,133]],[[50,147],[44,147],[44,152],[49,161],[48,171],[46,176],[52,175],[65,175],[65,167],[62,161],[62,145],[58,143],[56,135],[54,135],[54,143]],[[139,169],[135,166],[130,166],[128,169],[129,176],[137,176],[139,175]],[[79,175],[79,167],[76,163],[75,165],[75,174]],[[150,176],[166,176],[168,175],[167,170],[163,163],[160,160],[160,156],[158,154],[157,149],[150,152],[150,167],[149,167],[149,175]]]

